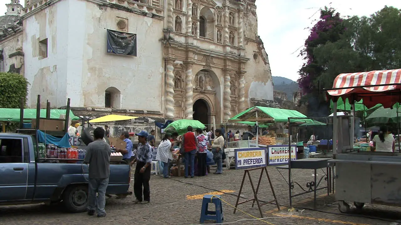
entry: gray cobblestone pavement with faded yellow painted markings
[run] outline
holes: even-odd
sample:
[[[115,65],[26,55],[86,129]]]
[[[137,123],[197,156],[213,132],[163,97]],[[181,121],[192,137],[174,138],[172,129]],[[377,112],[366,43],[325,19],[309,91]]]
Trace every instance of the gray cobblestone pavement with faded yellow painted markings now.
[[[367,205],[362,211],[352,209],[351,215],[340,215],[337,210],[336,201],[333,195],[327,196],[326,190],[319,190],[316,209],[313,208],[313,194],[302,195],[293,199],[293,207],[297,210],[289,213],[290,208],[288,199],[288,185],[283,177],[277,172],[275,167],[268,167],[269,175],[273,183],[277,199],[281,206],[278,211],[273,204],[262,206],[265,221],[239,221],[232,224],[342,224],[342,225],[397,225],[394,222],[400,219],[401,209],[397,207],[384,207],[378,205]],[[284,176],[288,176],[287,171]],[[146,205],[134,205],[132,201],[134,196],[128,196],[125,199],[107,198],[106,211],[107,217],[97,218],[89,217],[86,213],[70,214],[63,211],[60,206],[46,205],[23,205],[0,207],[0,225],[23,225],[23,224],[153,224],[153,225],[189,225],[199,224],[201,199],[187,199],[187,195],[203,195],[219,190],[231,190],[232,193],[224,193],[221,198],[231,205],[235,205],[237,194],[243,177],[243,170],[224,171],[222,175],[208,175],[206,177],[195,177],[193,179],[184,179],[183,177],[172,177],[163,179],[160,176],[151,178],[151,203]],[[313,180],[312,170],[293,170],[294,181],[298,181],[303,187],[306,187],[308,181]],[[252,179],[255,185],[259,178],[259,172],[251,171]],[[318,177],[323,175],[318,172]],[[324,182],[324,180],[323,180]],[[261,187],[259,188],[259,199],[263,201],[273,200],[273,194],[269,188],[267,177],[263,177]],[[132,185],[130,187],[132,190]],[[302,192],[296,186],[295,193]],[[249,179],[246,180],[241,197],[251,197],[252,189]],[[195,197],[192,197],[195,198]],[[243,201],[244,199],[242,199]],[[241,201],[241,200],[240,200]],[[255,217],[260,217],[259,210],[251,207],[252,203],[239,205],[239,209]],[[306,208],[306,209],[305,209]],[[304,210],[303,210],[304,209]],[[303,210],[303,211],[302,211]],[[252,219],[249,215],[237,211],[233,214],[233,208],[223,203],[224,222],[234,222],[240,219]],[[362,216],[380,217],[382,219],[372,219]],[[397,218],[398,217],[398,218]],[[390,220],[393,220],[391,222]],[[209,221],[213,223],[212,221]],[[400,221],[401,224],[401,221]]]

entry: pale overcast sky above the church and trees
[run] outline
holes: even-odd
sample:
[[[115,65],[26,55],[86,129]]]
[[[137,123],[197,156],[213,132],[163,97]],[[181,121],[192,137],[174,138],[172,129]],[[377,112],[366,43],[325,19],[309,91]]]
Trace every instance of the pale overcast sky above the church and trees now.
[[[8,2],[0,0],[1,15]],[[298,79],[303,63],[298,54],[310,33],[306,28],[319,17],[319,8],[331,6],[342,16],[369,16],[385,5],[401,8],[401,0],[256,0],[258,33],[269,55],[272,75]]]

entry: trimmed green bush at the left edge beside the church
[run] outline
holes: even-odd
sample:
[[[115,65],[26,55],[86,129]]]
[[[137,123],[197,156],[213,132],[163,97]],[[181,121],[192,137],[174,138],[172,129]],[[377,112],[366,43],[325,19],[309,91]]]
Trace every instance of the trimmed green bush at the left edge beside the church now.
[[[29,82],[16,73],[0,72],[0,108],[19,108],[28,93]]]

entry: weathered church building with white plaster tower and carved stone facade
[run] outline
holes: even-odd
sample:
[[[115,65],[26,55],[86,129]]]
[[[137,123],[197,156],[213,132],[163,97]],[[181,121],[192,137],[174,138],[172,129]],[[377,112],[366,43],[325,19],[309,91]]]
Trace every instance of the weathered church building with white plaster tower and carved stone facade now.
[[[82,113],[219,124],[273,100],[255,0],[25,0],[18,21],[32,107],[41,94]],[[106,29],[137,34],[137,56],[107,53]]]

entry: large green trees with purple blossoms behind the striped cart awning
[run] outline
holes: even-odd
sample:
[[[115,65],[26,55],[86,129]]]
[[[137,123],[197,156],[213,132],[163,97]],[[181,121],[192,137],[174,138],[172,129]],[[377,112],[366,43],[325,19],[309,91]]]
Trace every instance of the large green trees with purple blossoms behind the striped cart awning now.
[[[340,73],[401,68],[401,10],[385,6],[371,16],[340,18],[332,8],[321,10],[301,56],[299,70],[304,98],[323,103],[321,88],[331,88]],[[318,96],[318,97],[316,97]]]

